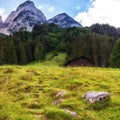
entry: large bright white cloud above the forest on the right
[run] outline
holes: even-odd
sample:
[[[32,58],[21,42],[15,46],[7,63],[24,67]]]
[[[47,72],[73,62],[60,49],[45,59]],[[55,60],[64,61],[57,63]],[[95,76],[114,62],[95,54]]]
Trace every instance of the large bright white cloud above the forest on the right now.
[[[91,0],[88,11],[80,12],[75,17],[83,26],[95,23],[108,23],[120,27],[120,0]]]

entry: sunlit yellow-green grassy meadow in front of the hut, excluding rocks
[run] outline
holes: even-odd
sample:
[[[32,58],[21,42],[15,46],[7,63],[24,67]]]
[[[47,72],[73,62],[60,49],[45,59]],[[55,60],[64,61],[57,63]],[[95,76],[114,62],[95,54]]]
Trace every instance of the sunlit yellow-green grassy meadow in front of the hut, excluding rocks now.
[[[119,86],[119,69],[1,66],[0,120],[120,120]],[[108,91],[111,100],[91,105],[82,99],[91,90]],[[54,105],[59,91],[66,94]]]

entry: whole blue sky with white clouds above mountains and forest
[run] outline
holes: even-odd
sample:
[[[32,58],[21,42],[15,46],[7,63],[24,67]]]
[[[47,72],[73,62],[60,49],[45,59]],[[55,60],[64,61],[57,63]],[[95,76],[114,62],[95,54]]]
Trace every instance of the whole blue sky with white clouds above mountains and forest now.
[[[26,0],[0,0],[0,15],[6,17]],[[82,26],[95,23],[120,27],[120,0],[32,0],[47,19],[67,13]]]

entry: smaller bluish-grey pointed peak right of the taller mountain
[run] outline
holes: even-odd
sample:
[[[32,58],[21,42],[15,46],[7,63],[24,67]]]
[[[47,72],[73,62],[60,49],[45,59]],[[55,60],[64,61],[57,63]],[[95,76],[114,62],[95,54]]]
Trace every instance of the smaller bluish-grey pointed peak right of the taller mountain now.
[[[82,27],[80,23],[75,21],[73,18],[68,16],[66,13],[56,15],[55,17],[49,19],[47,23],[54,23],[62,28]]]

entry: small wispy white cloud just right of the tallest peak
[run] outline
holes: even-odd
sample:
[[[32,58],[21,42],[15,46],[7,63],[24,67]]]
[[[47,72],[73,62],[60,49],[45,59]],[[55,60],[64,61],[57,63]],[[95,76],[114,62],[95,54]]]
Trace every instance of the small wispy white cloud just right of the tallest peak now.
[[[55,7],[51,6],[50,4],[43,4],[38,6],[39,9],[48,11],[49,13],[55,12]]]

